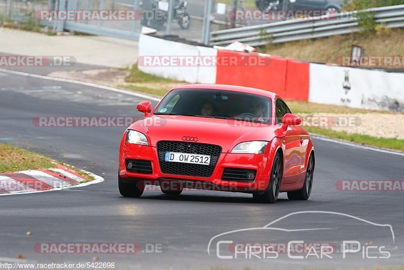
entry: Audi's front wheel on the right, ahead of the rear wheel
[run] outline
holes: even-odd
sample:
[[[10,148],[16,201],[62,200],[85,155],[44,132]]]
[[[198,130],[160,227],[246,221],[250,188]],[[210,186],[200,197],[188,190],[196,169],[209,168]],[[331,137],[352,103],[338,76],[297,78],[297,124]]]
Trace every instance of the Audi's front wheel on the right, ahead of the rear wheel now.
[[[272,165],[268,188],[263,194],[259,193],[252,194],[254,201],[259,203],[274,203],[278,199],[281,180],[282,180],[282,162],[281,162],[281,155],[278,152],[275,155],[274,163]]]

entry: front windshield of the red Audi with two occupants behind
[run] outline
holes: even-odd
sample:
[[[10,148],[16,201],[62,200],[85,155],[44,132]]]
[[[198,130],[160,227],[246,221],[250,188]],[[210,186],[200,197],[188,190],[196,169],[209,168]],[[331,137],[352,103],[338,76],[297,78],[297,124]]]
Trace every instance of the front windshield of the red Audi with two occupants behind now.
[[[271,99],[255,94],[215,89],[177,89],[155,114],[254,121],[270,124]]]

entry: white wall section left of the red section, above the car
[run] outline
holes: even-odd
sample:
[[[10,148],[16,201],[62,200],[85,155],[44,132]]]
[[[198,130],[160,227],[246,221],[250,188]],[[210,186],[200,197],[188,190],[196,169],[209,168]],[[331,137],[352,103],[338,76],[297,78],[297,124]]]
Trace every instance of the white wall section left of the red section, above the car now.
[[[188,58],[197,58],[200,55],[212,56],[216,58],[217,51],[213,48],[205,48],[192,46],[185,43],[157,38],[149,35],[141,34],[139,38],[139,58],[138,69],[142,72],[153,74],[159,77],[200,83],[215,83],[216,81],[216,64],[210,66],[181,66],[174,62],[179,56]],[[162,57],[168,57],[165,63],[172,61],[173,64],[154,64],[153,66],[144,63],[145,59],[163,60]],[[143,63],[140,63],[143,62]]]

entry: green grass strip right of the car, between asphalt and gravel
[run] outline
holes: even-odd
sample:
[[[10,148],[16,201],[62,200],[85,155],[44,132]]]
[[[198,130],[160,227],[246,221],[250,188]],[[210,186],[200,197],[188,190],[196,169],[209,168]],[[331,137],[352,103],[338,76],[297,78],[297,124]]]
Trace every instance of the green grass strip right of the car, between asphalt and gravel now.
[[[345,140],[362,145],[404,151],[404,140],[398,140],[394,138],[378,138],[359,133],[347,133],[344,131],[335,131],[329,128],[321,127],[305,127],[305,129],[310,133],[316,133],[330,138]]]

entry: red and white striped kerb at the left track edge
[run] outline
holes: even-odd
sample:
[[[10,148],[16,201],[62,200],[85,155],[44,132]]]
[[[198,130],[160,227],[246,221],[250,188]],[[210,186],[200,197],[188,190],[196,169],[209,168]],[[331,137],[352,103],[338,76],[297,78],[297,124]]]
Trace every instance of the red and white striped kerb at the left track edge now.
[[[104,181],[98,175],[88,181],[75,171],[64,166],[49,169],[25,170],[0,174],[0,196],[26,194],[52,190],[83,187]]]

